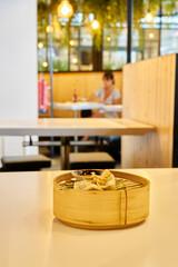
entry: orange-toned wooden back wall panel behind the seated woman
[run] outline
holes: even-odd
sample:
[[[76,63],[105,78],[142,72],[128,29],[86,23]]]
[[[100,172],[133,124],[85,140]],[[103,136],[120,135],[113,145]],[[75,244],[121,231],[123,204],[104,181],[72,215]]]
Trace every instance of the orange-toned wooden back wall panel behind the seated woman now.
[[[116,87],[122,93],[122,72],[113,71]],[[63,72],[53,73],[53,101],[66,102],[72,101],[73,90],[78,97],[89,97],[98,88],[103,86],[103,71],[101,72]],[[43,78],[50,81],[49,73],[44,73]],[[50,100],[50,99],[49,99]],[[49,116],[49,111],[48,115]],[[55,117],[72,117],[72,111],[55,110]]]

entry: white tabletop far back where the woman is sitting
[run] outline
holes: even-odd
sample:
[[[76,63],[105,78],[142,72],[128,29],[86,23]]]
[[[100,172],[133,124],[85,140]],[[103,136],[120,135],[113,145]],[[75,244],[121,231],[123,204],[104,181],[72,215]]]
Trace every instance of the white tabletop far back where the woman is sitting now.
[[[53,108],[65,110],[89,110],[102,108],[106,111],[122,111],[122,105],[103,105],[98,102],[53,102]]]

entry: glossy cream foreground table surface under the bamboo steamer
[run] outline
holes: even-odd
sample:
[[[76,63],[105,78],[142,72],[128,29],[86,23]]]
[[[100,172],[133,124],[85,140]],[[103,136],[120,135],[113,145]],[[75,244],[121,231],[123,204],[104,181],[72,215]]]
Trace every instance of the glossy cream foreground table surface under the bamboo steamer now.
[[[100,231],[53,217],[59,172],[1,172],[0,266],[177,267],[178,169],[127,171],[150,179],[150,216],[137,227]]]

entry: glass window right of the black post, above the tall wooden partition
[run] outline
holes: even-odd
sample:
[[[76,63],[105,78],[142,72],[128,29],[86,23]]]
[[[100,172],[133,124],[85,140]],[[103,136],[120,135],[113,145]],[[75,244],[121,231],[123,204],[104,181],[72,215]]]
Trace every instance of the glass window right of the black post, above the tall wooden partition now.
[[[162,1],[155,7],[152,21],[134,23],[131,62],[178,52],[178,1]]]

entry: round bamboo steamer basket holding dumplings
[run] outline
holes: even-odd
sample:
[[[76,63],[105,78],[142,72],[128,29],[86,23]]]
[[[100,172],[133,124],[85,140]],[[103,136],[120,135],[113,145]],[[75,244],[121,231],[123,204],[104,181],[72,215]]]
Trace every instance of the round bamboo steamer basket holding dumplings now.
[[[122,171],[110,172],[139,186],[119,190],[60,189],[62,180],[72,172],[59,175],[53,180],[53,215],[62,222],[83,229],[116,229],[131,227],[149,215],[150,181]]]

